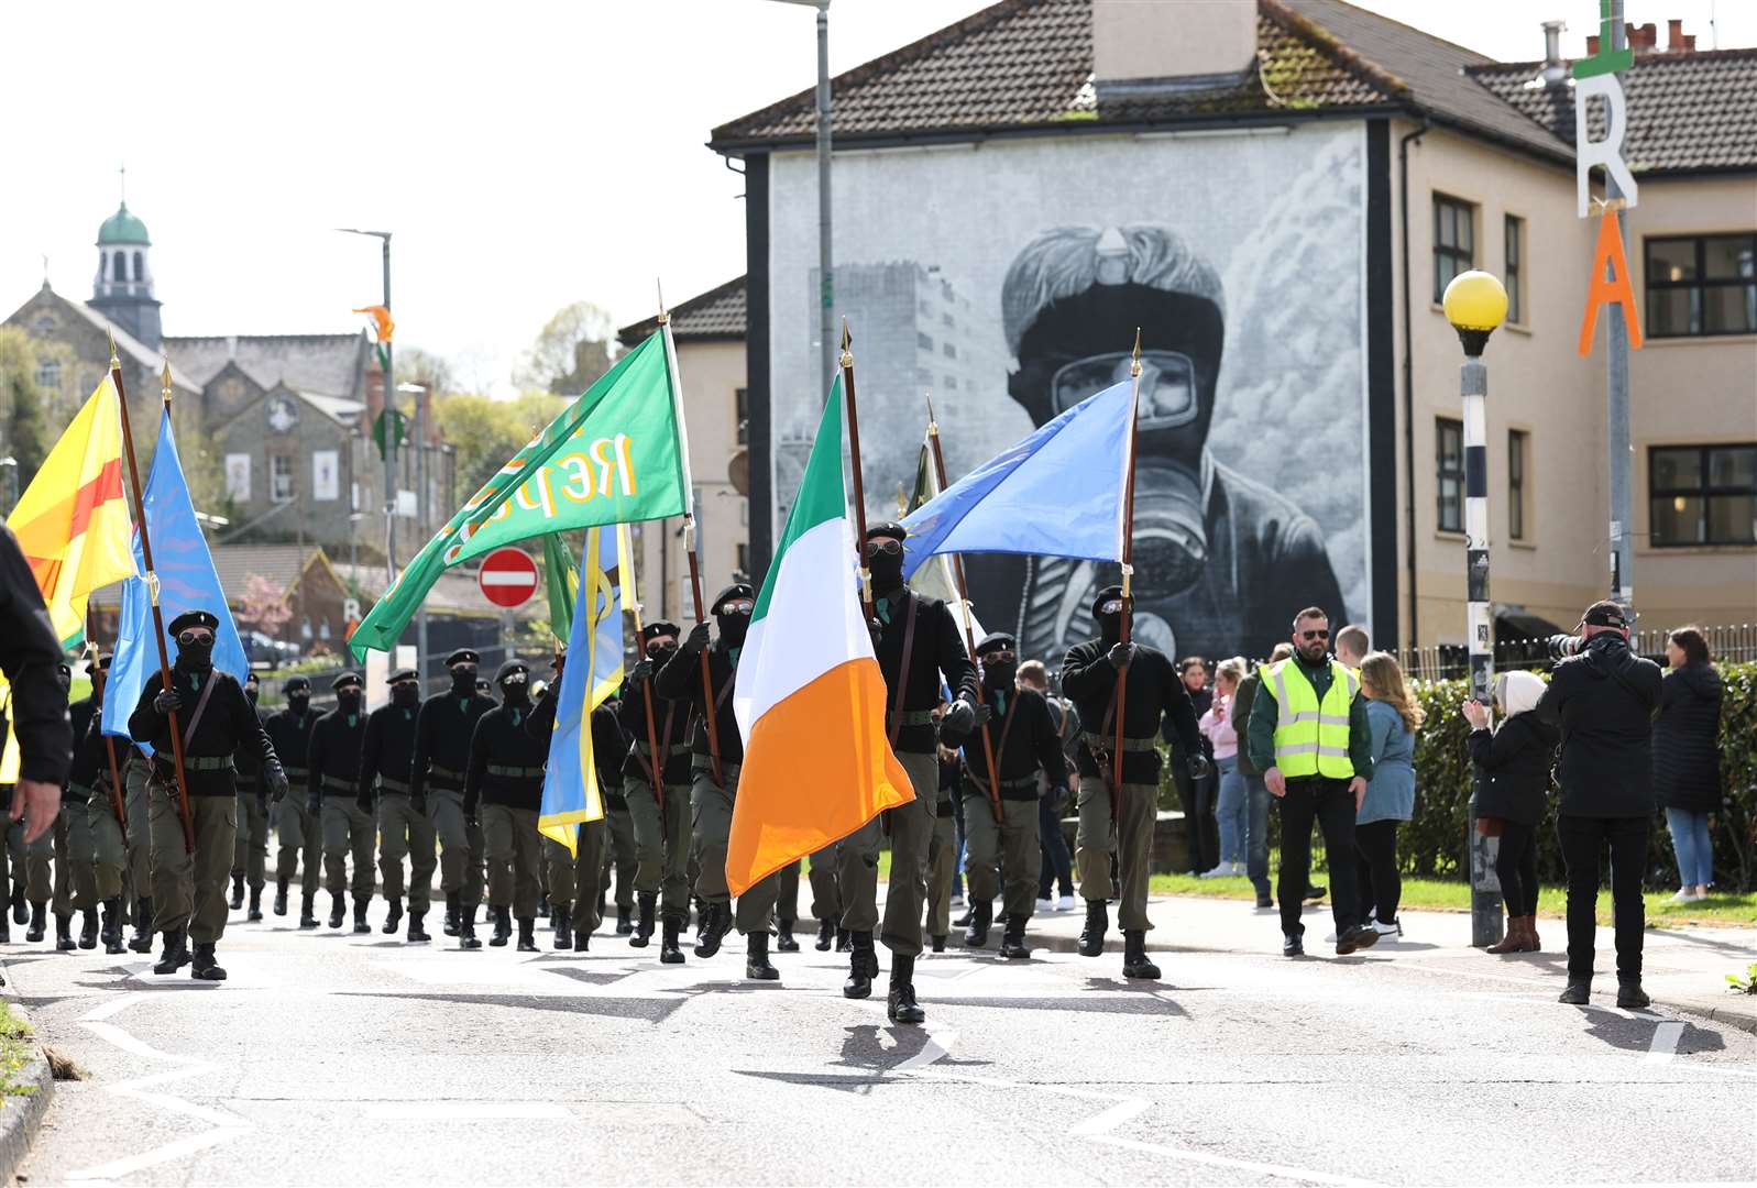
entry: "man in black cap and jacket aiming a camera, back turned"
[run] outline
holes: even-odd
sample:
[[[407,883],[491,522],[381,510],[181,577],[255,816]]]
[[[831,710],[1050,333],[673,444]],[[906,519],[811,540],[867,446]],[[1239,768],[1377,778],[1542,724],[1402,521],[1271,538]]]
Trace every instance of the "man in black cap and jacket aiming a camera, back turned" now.
[[[1592,995],[1592,935],[1599,872],[1611,847],[1611,916],[1616,921],[1616,1005],[1645,1007],[1641,989],[1641,868],[1653,828],[1653,710],[1660,671],[1629,650],[1629,617],[1594,603],[1580,617],[1578,656],[1555,666],[1534,710],[1562,729],[1555,831],[1567,863],[1567,988],[1562,1002]]]

